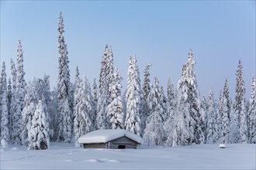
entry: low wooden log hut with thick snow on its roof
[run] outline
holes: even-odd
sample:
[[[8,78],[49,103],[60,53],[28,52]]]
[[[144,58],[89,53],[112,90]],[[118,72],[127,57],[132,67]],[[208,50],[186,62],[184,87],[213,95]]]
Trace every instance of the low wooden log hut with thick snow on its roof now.
[[[103,129],[78,138],[84,148],[137,148],[143,139],[123,129]]]

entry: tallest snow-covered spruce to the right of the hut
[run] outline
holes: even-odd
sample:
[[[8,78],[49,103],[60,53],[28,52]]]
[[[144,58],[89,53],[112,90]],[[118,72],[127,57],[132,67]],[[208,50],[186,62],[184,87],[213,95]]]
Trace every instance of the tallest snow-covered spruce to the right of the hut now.
[[[195,61],[192,59],[193,54],[190,50],[188,53],[189,60],[182,68],[182,78],[178,80],[178,103],[189,104],[189,131],[192,134],[189,144],[201,144],[204,142],[204,135],[202,132],[201,107],[199,101],[199,90],[195,77]]]

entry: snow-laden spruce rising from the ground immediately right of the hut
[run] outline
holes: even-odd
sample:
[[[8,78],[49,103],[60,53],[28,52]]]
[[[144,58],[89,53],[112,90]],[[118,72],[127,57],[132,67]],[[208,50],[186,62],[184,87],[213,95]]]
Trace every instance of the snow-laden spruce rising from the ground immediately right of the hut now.
[[[144,145],[163,145],[164,107],[161,99],[161,87],[157,77],[155,77],[154,85],[148,94],[147,104],[150,109],[150,115],[147,117],[146,128],[144,129]]]

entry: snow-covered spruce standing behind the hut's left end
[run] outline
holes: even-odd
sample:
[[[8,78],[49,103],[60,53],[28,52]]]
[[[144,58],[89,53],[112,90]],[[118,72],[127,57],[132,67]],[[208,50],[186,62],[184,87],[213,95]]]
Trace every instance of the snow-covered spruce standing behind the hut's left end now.
[[[74,128],[74,144],[75,146],[80,146],[78,143],[78,138],[87,134],[92,130],[92,101],[89,91],[89,84],[86,77],[83,77],[82,82],[78,90],[79,101],[76,104],[75,112],[76,117],[74,117],[75,128]]]

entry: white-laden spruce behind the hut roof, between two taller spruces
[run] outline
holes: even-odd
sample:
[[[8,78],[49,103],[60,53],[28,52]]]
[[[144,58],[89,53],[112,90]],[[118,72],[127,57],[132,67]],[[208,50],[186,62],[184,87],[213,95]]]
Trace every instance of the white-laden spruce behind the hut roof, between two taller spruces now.
[[[119,76],[119,71],[115,68],[114,73],[112,74],[111,84],[109,90],[111,92],[112,102],[107,107],[110,120],[111,129],[123,129],[123,99],[121,96],[122,88],[122,77]]]

